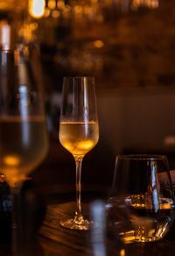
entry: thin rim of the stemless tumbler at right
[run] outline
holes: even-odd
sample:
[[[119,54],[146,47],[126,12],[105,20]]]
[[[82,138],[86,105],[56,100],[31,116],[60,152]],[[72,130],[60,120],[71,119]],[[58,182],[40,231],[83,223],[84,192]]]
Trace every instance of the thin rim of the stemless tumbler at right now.
[[[161,159],[168,159],[165,155],[160,154],[124,154],[124,155],[117,155],[116,159],[127,159],[127,160],[161,160]]]

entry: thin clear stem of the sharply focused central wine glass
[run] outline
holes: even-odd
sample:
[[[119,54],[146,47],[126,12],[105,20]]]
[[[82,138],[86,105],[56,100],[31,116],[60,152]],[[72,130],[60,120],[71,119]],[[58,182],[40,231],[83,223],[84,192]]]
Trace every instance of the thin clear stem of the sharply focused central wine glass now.
[[[83,157],[75,157],[76,163],[76,203],[75,221],[81,219],[81,165]]]

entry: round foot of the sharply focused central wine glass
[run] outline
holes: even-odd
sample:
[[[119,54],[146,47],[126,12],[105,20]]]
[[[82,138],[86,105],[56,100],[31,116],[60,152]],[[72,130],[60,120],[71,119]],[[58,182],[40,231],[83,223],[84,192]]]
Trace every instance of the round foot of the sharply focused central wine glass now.
[[[81,224],[75,223],[74,219],[60,222],[60,226],[68,230],[89,230],[91,225],[92,222],[89,222],[88,220],[83,220]]]

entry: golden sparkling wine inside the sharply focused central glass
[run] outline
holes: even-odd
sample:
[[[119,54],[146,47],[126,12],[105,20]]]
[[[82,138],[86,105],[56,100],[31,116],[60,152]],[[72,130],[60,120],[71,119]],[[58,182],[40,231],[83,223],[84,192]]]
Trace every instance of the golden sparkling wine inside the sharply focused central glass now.
[[[69,122],[59,124],[59,141],[73,156],[84,156],[99,139],[98,122]]]

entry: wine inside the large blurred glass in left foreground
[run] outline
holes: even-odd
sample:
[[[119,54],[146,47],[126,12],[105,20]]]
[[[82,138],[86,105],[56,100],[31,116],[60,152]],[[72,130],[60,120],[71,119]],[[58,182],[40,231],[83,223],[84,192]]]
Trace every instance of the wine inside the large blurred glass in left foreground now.
[[[0,118],[0,170],[13,185],[37,167],[47,152],[45,118]]]

